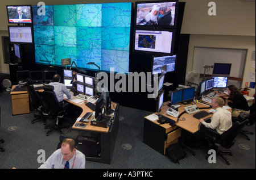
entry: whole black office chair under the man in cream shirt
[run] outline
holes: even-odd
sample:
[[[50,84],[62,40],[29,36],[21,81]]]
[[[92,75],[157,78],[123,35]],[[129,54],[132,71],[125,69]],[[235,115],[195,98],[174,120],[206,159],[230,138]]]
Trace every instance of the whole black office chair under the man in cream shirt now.
[[[222,133],[220,136],[212,137],[208,135],[207,133],[203,133],[203,136],[205,139],[208,140],[210,146],[208,148],[216,150],[216,154],[218,154],[222,159],[226,161],[226,164],[230,164],[229,160],[226,159],[223,154],[229,154],[232,156],[232,152],[228,150],[220,150],[218,149],[218,145],[221,145],[222,147],[229,149],[231,148],[235,143],[235,138],[238,135],[238,133],[241,132],[242,128],[246,125],[248,122],[248,119],[244,120],[243,122],[233,122],[233,125],[231,128],[229,128],[226,132]],[[210,129],[211,131],[212,129]],[[217,132],[216,132],[217,133]],[[207,160],[210,155],[207,155]]]

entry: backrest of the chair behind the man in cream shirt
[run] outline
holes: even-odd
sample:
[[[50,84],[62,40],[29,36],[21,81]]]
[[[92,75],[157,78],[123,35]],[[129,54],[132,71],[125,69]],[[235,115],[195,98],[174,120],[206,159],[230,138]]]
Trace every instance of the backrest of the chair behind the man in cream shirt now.
[[[240,133],[243,127],[245,127],[248,119],[244,120],[243,122],[233,122],[232,127],[229,128],[226,132],[222,133],[221,135],[221,146],[224,148],[231,148],[234,145],[234,139]]]

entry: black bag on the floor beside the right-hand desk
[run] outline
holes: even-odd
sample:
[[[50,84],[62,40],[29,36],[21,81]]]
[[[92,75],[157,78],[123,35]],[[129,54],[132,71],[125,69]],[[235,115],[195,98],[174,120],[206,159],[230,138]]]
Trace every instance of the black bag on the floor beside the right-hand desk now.
[[[179,144],[171,144],[166,149],[166,156],[170,158],[172,162],[179,164],[179,160],[182,160],[186,156],[186,153]]]

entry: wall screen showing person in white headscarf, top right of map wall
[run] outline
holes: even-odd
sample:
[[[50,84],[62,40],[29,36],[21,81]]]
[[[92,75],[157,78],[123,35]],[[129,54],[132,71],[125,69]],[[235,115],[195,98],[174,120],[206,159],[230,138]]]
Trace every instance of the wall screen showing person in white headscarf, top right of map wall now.
[[[135,2],[135,27],[176,28],[177,1]]]

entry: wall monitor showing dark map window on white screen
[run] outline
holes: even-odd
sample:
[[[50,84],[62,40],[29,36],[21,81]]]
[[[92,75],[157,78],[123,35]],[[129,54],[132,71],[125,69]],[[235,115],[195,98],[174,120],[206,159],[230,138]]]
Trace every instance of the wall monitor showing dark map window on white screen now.
[[[135,30],[134,52],[173,55],[175,30]]]

